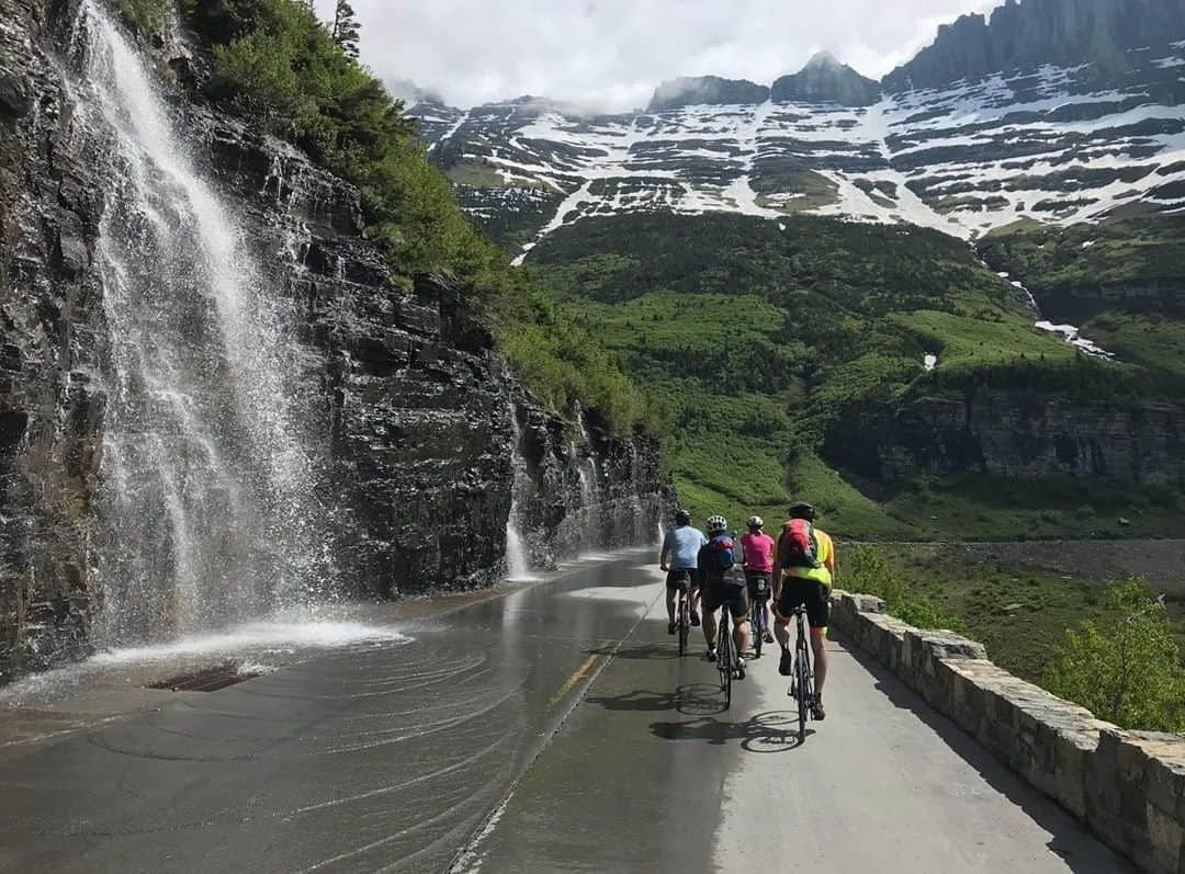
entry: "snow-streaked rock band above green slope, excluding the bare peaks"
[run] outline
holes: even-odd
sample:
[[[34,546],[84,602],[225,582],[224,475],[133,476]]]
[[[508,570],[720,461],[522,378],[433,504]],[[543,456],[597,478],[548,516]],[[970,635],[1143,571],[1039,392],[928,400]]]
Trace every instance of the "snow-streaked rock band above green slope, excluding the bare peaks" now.
[[[1129,53],[1095,88],[1042,66],[886,95],[869,108],[763,103],[582,116],[521,98],[411,114],[462,204],[530,238],[590,216],[795,212],[909,223],[974,238],[1185,208],[1185,44]],[[1139,204],[1136,207],[1135,205]]]

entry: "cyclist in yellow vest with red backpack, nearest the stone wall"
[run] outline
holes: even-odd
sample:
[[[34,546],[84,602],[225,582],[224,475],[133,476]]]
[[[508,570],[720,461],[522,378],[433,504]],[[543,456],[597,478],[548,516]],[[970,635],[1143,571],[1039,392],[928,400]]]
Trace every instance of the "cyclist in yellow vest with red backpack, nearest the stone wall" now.
[[[782,647],[777,671],[794,673],[790,650],[790,619],[795,608],[805,606],[814,650],[815,696],[811,707],[815,719],[825,719],[822,686],[827,680],[827,622],[831,617],[831,584],[835,576],[835,545],[814,527],[815,512],[809,503],[796,503],[777,540],[777,572],[774,574],[774,598],[777,618],[774,634]]]

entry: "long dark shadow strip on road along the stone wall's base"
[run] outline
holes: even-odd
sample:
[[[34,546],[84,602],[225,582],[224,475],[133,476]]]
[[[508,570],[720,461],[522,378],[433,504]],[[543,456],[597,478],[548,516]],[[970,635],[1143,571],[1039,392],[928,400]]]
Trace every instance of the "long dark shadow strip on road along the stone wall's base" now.
[[[872,675],[876,688],[896,707],[909,711],[924,722],[950,750],[974,767],[995,791],[1025,811],[1033,822],[1052,835],[1046,847],[1059,856],[1075,874],[1134,874],[1129,862],[1120,859],[1089,835],[1076,820],[1042,796],[1019,775],[1001,764],[978,740],[963,732],[949,718],[935,711],[896,674],[860,650],[850,640],[837,636],[835,643]]]

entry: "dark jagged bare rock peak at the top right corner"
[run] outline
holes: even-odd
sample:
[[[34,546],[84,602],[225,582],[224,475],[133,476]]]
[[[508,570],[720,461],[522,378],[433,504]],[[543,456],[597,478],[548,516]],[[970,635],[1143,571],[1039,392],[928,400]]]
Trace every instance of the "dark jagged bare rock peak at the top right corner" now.
[[[1185,30],[1177,0],[1007,0],[992,13],[939,28],[934,45],[884,79],[888,91],[940,88],[999,70],[1094,65],[1095,78],[1125,72],[1126,50],[1158,46]]]

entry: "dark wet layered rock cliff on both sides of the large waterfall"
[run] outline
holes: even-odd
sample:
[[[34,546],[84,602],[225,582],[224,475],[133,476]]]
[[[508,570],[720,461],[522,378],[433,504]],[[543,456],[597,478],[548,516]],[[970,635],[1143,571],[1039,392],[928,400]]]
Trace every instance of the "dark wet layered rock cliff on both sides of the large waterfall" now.
[[[115,165],[88,150],[63,78],[76,15],[73,2],[0,0],[0,682],[95,645],[104,532],[120,522],[98,497],[118,327],[96,248]],[[534,404],[467,289],[392,283],[351,186],[180,94],[169,111],[233,207],[264,293],[295,316],[286,342],[337,552],[326,595],[500,579],[515,497],[540,565],[653,539],[664,489],[652,442]]]

